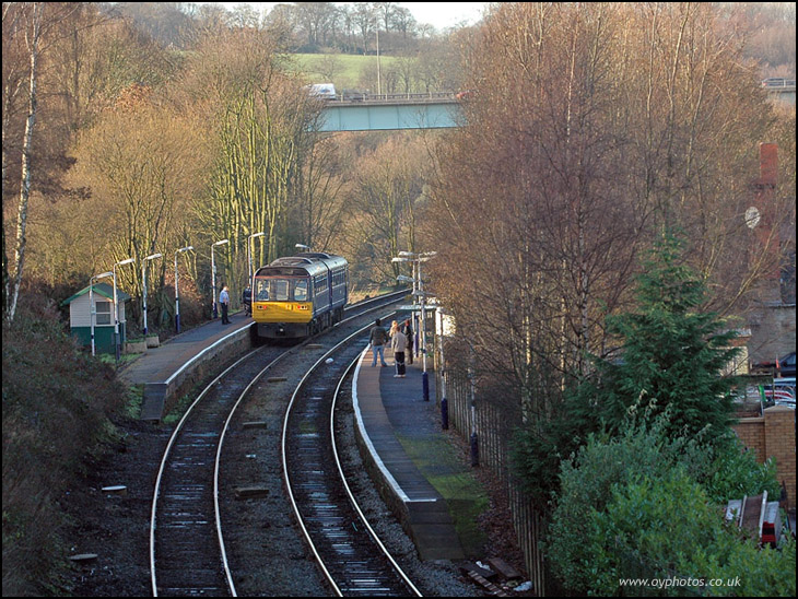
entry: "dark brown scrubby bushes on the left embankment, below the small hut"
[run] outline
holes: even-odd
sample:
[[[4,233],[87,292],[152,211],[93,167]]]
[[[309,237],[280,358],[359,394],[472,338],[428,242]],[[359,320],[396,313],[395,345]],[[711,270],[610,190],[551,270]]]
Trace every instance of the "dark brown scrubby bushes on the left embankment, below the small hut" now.
[[[21,297],[13,325],[3,318],[2,343],[2,594],[60,595],[60,504],[113,431],[125,394],[112,367],[78,350],[44,296]]]

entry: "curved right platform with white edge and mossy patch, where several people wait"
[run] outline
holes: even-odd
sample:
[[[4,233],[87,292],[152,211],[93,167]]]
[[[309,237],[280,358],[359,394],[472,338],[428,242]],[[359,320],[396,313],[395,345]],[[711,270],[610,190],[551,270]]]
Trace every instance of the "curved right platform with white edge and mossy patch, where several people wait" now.
[[[372,367],[372,352],[366,349],[352,386],[355,431],[366,467],[422,560],[462,560],[449,505],[431,482],[461,473],[448,460],[430,460],[430,454],[447,444],[435,404],[432,361],[427,360],[431,399],[424,401],[421,361],[407,365],[406,378],[396,378],[392,355],[386,354],[390,366]],[[422,472],[416,466],[421,454],[434,462],[432,470]]]

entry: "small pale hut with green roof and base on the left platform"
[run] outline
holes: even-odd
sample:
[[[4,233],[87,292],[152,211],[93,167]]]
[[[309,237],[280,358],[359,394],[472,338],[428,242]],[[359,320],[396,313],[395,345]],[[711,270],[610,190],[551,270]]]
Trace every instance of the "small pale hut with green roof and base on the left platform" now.
[[[114,286],[108,283],[94,283],[93,287],[94,347],[99,353],[115,353]],[[85,348],[92,345],[92,312],[90,312],[89,295],[89,287],[85,287],[61,302],[61,306],[69,306],[69,328],[72,337],[78,338]],[[119,343],[124,348],[127,338],[125,305],[130,295],[118,289],[116,295],[119,303]]]

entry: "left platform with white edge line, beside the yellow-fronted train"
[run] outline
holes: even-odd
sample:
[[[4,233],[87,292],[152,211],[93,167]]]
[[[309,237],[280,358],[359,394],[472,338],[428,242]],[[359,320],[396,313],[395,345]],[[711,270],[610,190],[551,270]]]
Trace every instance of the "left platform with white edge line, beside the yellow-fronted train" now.
[[[141,420],[159,422],[169,400],[206,376],[214,361],[228,361],[249,348],[251,317],[242,310],[230,320],[222,325],[216,318],[173,337],[119,371],[129,385],[144,387]]]

